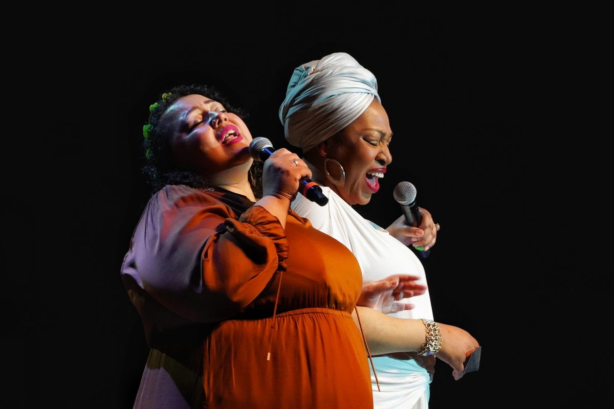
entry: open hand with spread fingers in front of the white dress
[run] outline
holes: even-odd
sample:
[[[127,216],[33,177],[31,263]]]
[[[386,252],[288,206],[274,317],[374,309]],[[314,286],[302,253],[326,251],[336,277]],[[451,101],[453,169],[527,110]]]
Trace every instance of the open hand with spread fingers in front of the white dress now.
[[[417,275],[395,274],[383,280],[365,283],[356,305],[373,308],[384,314],[411,310],[414,304],[398,301],[421,296],[426,292],[425,285],[416,283],[419,278]]]

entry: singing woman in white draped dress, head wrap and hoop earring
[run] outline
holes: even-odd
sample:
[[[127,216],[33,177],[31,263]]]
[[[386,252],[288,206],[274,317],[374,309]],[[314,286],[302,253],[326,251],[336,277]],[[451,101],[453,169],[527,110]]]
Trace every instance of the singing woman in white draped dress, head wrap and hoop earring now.
[[[408,226],[400,216],[383,229],[352,208],[370,201],[379,189],[378,179],[392,161],[388,149],[392,131],[373,74],[347,53],[301,64],[290,78],[279,118],[286,139],[302,149],[312,180],[328,197],[328,204],[319,206],[297,195],[293,210],[354,253],[363,283],[410,274],[419,276],[418,283],[426,285],[424,268],[407,246],[426,251],[435,243],[438,225],[430,213],[421,209],[419,227]],[[451,365],[454,378],[460,379],[465,357],[479,346],[468,332],[432,322],[428,290],[412,302],[413,309],[401,307],[391,315],[422,319],[424,327],[419,331],[427,332],[427,342],[418,351],[373,357],[375,408],[428,408],[435,356]],[[384,325],[390,324],[387,321]]]

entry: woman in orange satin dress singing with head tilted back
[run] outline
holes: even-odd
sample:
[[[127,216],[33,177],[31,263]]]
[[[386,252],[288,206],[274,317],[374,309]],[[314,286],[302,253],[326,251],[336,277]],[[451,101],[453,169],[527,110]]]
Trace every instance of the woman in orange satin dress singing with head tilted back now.
[[[134,407],[372,408],[360,267],[290,210],[308,167],[275,151],[254,193],[251,134],[213,90],[150,110],[155,193],[121,270],[150,346]]]

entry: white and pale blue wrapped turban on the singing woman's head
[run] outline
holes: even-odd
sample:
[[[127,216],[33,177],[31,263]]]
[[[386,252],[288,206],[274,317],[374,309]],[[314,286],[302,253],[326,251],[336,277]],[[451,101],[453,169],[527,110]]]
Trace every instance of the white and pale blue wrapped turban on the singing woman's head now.
[[[294,69],[279,120],[288,142],[306,152],[360,117],[373,97],[381,102],[375,76],[348,53],[333,53]]]

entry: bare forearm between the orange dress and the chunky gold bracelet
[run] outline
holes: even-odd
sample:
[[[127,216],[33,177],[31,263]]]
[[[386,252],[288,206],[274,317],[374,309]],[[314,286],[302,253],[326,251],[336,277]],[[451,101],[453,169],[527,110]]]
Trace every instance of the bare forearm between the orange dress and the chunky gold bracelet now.
[[[397,318],[368,307],[356,307],[369,350],[373,355],[416,351],[426,341],[421,319]],[[359,325],[356,311],[352,317]]]

